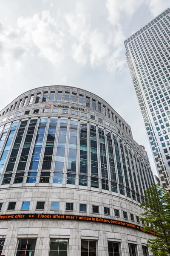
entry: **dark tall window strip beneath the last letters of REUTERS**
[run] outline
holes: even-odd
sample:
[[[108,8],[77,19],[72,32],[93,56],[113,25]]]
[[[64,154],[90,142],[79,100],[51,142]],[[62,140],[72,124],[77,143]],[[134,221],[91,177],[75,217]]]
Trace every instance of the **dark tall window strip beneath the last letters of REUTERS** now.
[[[80,122],[79,185],[88,186],[88,133],[87,123]]]

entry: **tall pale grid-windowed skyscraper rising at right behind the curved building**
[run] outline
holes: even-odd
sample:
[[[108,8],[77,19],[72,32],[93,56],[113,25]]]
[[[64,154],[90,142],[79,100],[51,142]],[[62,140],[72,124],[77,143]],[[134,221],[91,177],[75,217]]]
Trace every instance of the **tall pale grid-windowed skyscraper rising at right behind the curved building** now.
[[[170,9],[124,43],[156,169],[170,189]]]

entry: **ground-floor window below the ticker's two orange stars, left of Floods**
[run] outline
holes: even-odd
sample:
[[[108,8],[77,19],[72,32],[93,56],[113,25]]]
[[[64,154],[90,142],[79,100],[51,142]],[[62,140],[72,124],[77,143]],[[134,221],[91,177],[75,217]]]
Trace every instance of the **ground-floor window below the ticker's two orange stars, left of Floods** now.
[[[36,239],[19,239],[16,256],[34,256]]]

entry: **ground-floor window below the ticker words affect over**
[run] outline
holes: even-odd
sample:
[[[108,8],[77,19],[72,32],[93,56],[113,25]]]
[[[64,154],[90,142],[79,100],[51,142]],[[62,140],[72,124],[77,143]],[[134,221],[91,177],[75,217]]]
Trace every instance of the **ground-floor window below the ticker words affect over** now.
[[[67,239],[51,239],[49,256],[67,256],[67,250]]]

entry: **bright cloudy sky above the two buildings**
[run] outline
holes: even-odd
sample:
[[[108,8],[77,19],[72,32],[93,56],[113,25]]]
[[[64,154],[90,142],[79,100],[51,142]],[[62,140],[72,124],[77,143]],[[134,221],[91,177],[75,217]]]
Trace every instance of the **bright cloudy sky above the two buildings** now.
[[[0,109],[35,87],[89,90],[131,126],[156,174],[123,42],[167,7],[170,0],[0,0]]]

